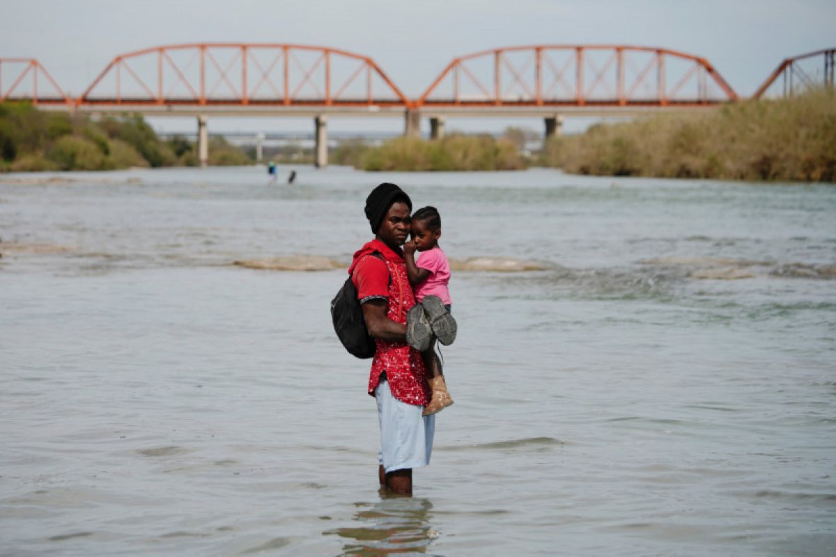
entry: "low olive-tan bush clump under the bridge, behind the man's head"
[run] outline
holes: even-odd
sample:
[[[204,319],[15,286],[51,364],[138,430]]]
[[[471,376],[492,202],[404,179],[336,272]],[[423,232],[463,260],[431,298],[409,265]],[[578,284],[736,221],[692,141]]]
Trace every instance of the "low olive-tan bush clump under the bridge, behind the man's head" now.
[[[359,140],[334,149],[338,165],[362,170],[520,170],[528,162],[512,140],[491,135],[450,134],[443,139],[390,139],[377,147]]]

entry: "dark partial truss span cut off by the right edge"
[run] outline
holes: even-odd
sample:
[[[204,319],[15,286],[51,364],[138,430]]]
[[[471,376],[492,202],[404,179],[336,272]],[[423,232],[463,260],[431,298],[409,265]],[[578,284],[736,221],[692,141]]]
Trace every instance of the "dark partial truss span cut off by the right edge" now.
[[[784,58],[752,97],[760,99],[767,92],[792,97],[793,94],[817,87],[833,88],[834,73],[836,48],[825,48],[793,58]]]

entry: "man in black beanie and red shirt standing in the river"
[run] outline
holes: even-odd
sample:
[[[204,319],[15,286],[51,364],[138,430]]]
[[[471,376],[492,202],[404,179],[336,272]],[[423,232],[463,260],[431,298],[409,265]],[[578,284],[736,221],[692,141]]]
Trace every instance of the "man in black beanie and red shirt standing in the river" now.
[[[412,468],[430,463],[435,416],[421,416],[430,402],[421,352],[406,343],[406,312],[415,306],[404,252],[412,201],[394,184],[381,184],[366,198],[365,215],[375,239],[354,253],[349,274],[377,350],[369,394],[380,419],[380,484],[396,494],[412,493]],[[435,353],[427,354],[435,365]],[[435,358],[435,359],[432,359]]]

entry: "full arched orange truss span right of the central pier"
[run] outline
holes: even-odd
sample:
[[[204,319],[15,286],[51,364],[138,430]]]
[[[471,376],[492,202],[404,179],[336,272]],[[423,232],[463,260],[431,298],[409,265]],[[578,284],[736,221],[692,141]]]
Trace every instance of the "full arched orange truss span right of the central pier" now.
[[[533,45],[455,58],[425,106],[666,106],[735,100],[705,58],[665,48]]]

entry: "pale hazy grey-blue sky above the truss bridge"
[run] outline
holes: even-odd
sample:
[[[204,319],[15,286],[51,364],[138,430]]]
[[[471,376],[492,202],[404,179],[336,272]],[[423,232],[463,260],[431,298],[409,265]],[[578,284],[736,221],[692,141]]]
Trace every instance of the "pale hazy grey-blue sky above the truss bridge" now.
[[[461,54],[624,43],[708,58],[746,96],[782,58],[836,46],[833,22],[836,0],[0,0],[0,57],[38,58],[79,94],[116,54],[138,48],[303,43],[375,58],[415,97]]]

